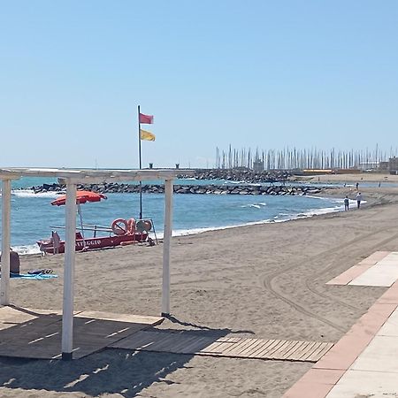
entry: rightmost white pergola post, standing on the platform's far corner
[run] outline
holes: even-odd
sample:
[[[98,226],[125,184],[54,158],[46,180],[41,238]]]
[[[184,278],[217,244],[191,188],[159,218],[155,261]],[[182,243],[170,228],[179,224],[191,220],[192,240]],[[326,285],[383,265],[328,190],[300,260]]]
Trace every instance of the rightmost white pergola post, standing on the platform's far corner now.
[[[170,243],[172,240],[172,180],[165,180],[165,229],[163,237],[162,316],[170,314]]]

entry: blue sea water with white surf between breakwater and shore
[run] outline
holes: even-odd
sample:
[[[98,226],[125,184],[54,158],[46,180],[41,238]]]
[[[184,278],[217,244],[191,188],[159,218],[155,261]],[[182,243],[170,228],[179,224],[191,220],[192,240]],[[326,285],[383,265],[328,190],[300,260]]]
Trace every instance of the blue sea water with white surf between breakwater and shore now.
[[[22,178],[12,182],[11,246],[20,254],[38,253],[36,241],[50,238],[54,226],[65,226],[65,206],[50,203],[57,193],[34,194],[32,186],[50,179]],[[157,182],[158,183],[158,182]],[[223,180],[176,180],[176,184],[231,184]],[[115,218],[138,218],[138,194],[107,194],[99,203],[84,203],[84,224],[111,226]],[[1,207],[1,203],[0,203]],[[173,235],[202,233],[233,226],[283,222],[343,209],[342,198],[300,195],[173,195]],[[157,237],[163,236],[165,195],[142,194],[142,214],[151,218]],[[77,226],[80,218],[77,218]],[[64,230],[57,229],[61,238]],[[89,237],[88,233],[86,236]]]

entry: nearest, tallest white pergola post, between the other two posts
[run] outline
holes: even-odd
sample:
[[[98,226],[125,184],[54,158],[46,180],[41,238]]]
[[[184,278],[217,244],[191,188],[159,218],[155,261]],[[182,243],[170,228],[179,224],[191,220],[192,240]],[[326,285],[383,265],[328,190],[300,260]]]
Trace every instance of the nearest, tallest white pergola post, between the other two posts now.
[[[62,359],[73,358],[73,296],[76,245],[76,184],[66,181],[64,302],[62,310]]]

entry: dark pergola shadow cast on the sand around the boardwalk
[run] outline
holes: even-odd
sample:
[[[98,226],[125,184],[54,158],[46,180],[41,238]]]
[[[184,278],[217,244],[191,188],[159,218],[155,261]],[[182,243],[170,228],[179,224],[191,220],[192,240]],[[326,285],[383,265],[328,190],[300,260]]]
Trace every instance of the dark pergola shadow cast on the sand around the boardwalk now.
[[[172,324],[193,327],[196,330],[167,328],[149,331],[184,333],[208,337],[216,341],[230,333],[251,333],[212,329],[167,317]],[[0,334],[1,335],[1,334]],[[165,377],[178,369],[189,368],[193,355],[134,351],[105,348],[81,359],[65,362],[60,360],[32,360],[0,358],[0,386],[7,389],[47,390],[57,393],[82,393],[88,395],[120,394],[134,397],[153,383],[173,384]],[[0,395],[6,395],[0,393]],[[38,391],[38,394],[40,394]],[[24,393],[25,394],[25,393]],[[28,393],[26,393],[28,394]]]

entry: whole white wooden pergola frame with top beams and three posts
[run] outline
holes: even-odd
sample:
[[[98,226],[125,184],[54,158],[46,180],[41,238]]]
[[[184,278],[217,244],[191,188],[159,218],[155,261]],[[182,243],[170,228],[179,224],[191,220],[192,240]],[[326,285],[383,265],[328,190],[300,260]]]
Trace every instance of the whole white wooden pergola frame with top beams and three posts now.
[[[170,314],[170,245],[172,238],[173,180],[178,174],[193,176],[188,170],[73,170],[49,168],[1,168],[2,180],[2,253],[11,246],[11,180],[21,177],[52,177],[66,185],[64,299],[62,309],[62,358],[73,358],[73,297],[76,241],[77,184],[165,180],[165,229],[163,245],[162,316]],[[0,305],[10,304],[10,256],[2,256]]]

